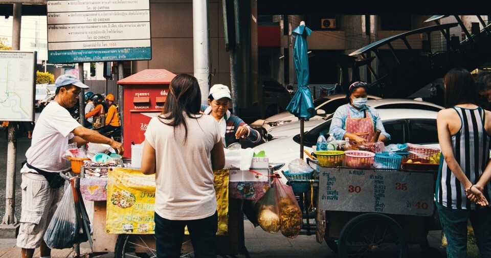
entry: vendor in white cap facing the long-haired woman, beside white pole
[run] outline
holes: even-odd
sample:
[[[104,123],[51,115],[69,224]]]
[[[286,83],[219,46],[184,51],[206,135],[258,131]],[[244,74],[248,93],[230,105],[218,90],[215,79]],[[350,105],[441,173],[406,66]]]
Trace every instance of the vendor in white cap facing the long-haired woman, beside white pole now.
[[[238,143],[240,138],[247,139],[252,143],[258,143],[261,140],[259,132],[238,118],[238,116],[230,113],[231,100],[229,87],[223,84],[215,84],[210,88],[209,106],[202,105],[201,110],[218,121],[225,147]]]

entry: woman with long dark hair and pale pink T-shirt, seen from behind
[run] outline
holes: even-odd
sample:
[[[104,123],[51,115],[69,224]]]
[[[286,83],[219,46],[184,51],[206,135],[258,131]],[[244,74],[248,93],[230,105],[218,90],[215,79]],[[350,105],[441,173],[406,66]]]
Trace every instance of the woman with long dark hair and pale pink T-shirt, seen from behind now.
[[[199,113],[196,78],[172,79],[162,114],[145,132],[142,172],[155,173],[155,238],[158,257],[179,257],[187,225],[195,257],[216,257],[213,170],[225,166],[220,128]]]

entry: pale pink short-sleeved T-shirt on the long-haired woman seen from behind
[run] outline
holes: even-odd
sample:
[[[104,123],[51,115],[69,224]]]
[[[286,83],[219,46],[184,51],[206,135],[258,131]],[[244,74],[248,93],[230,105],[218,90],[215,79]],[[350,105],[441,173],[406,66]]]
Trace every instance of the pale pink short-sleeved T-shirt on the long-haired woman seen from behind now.
[[[186,125],[186,142],[184,126],[174,130],[158,117],[145,132],[157,160],[155,212],[168,220],[203,219],[216,212],[211,150],[221,140],[220,128],[210,115],[186,116]]]

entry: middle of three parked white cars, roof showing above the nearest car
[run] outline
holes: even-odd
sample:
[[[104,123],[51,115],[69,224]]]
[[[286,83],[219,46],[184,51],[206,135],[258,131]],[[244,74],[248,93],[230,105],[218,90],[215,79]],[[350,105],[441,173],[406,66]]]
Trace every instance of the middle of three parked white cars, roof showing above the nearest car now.
[[[378,99],[378,100],[368,100],[367,105],[370,107],[376,108],[378,111],[382,109],[394,109],[394,108],[402,108],[402,109],[420,109],[420,110],[431,110],[431,111],[439,111],[443,109],[442,106],[438,106],[436,104],[426,102],[426,101],[418,101],[418,100],[408,100],[408,99]],[[339,106],[338,106],[339,107]],[[332,114],[324,118],[323,120],[309,120],[304,123],[304,132],[309,131],[310,129],[316,127],[321,124],[325,120],[328,120],[332,117]],[[383,119],[383,116],[381,115]],[[300,133],[300,122],[295,121],[292,123],[279,125],[276,127],[272,127],[267,130],[264,134],[264,139],[266,141],[279,139],[287,136],[292,136]]]

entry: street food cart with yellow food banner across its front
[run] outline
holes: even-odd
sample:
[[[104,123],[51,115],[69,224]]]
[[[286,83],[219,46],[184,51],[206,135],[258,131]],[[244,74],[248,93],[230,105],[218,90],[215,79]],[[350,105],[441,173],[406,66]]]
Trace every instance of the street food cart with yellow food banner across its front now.
[[[93,252],[115,252],[116,257],[155,255],[154,175],[143,175],[139,169],[102,168],[107,170],[108,178],[85,177],[84,171],[93,169],[82,167],[80,180],[80,190],[85,200],[94,201]],[[267,175],[272,169],[267,157],[254,157],[251,162],[254,173],[238,169],[215,171],[219,254],[247,254],[243,240],[241,201],[257,200],[264,195],[269,186]],[[221,177],[217,177],[217,173],[221,173]],[[125,188],[119,187],[115,191],[115,185],[122,184],[126,185]],[[142,190],[142,186],[145,186],[145,190]],[[225,189],[220,189],[220,186]],[[119,207],[115,208],[115,205]],[[145,210],[146,213],[136,210]],[[222,218],[227,220],[225,227],[220,227],[220,210],[225,210],[222,213]],[[220,228],[224,229],[220,232]],[[182,252],[192,252],[189,239],[183,243]]]

